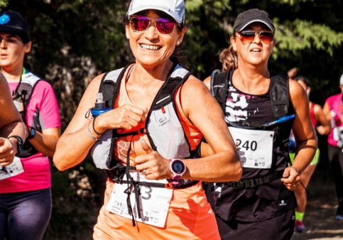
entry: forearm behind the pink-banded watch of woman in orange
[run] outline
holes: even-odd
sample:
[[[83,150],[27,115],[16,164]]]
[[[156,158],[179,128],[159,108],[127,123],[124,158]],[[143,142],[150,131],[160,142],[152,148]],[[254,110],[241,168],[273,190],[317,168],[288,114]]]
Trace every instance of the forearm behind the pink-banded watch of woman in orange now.
[[[241,162],[236,151],[227,150],[205,158],[185,159],[183,161],[187,166],[183,175],[185,179],[227,182],[241,178]]]

